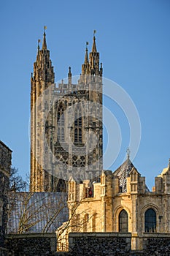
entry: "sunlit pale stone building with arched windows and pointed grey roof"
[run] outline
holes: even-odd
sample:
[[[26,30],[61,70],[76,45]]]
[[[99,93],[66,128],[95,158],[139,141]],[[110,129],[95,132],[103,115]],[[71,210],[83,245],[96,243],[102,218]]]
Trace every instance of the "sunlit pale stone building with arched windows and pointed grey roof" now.
[[[145,233],[170,236],[169,182],[170,165],[155,178],[150,192],[129,157],[114,173],[104,170],[98,183],[70,178],[68,207],[75,205],[76,210],[69,230],[62,233],[66,224],[57,230],[58,250],[69,248],[70,232],[129,232],[131,249],[143,248]]]

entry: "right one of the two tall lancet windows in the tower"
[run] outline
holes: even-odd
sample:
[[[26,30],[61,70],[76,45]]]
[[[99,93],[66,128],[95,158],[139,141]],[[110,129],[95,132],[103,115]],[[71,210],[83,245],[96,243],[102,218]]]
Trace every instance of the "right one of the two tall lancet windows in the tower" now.
[[[82,111],[80,107],[74,112],[74,142],[82,142]]]

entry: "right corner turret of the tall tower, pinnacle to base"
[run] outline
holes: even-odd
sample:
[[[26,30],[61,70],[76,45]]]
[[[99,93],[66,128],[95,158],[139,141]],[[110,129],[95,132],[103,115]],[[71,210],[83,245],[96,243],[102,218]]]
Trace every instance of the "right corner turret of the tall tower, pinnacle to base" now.
[[[86,162],[88,162],[88,168],[91,173],[96,170],[96,173],[101,174],[103,168],[103,131],[102,131],[102,64],[99,67],[99,53],[96,48],[96,37],[93,36],[92,50],[89,53],[88,58],[88,43],[86,43],[85,49],[85,61],[82,64],[82,74],[80,75],[80,85],[83,85],[87,91],[85,91],[86,99],[90,102],[88,111],[84,118],[85,124],[85,145]],[[87,117],[87,113],[89,116]],[[92,139],[93,135],[96,137],[97,143]],[[96,144],[96,146],[95,146]],[[91,151],[91,148],[93,150]],[[90,149],[91,152],[88,152]],[[96,159],[100,159],[99,161]],[[92,167],[93,166],[93,167]]]

